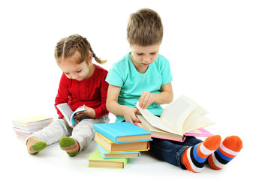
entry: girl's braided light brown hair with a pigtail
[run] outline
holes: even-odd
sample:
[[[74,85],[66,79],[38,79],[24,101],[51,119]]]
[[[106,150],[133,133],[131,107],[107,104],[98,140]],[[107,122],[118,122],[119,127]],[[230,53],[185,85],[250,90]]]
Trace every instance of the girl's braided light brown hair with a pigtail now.
[[[85,37],[80,36],[79,34],[73,34],[59,40],[55,47],[54,56],[57,63],[59,64],[60,58],[69,58],[76,52],[79,52],[81,56],[77,64],[80,64],[82,62],[86,62],[88,64],[89,52],[92,52],[96,62],[100,64],[107,62],[101,60],[101,58],[98,58],[93,52],[92,46],[89,41]]]

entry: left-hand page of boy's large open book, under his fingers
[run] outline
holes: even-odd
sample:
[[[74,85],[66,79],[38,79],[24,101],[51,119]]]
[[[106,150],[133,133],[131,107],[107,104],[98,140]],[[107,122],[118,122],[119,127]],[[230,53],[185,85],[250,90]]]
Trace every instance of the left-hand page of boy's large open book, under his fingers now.
[[[138,110],[140,110],[141,115],[143,115],[143,117],[146,119],[146,121],[148,121],[149,124],[151,124],[153,127],[157,127],[161,130],[165,130],[165,131],[170,132],[170,133],[179,134],[178,132],[176,132],[175,129],[168,126],[166,123],[164,123],[164,121],[162,121],[161,118],[159,118],[156,115],[153,115],[152,113],[149,112],[149,110],[143,110],[138,105],[138,103],[136,104],[136,107],[137,107]]]

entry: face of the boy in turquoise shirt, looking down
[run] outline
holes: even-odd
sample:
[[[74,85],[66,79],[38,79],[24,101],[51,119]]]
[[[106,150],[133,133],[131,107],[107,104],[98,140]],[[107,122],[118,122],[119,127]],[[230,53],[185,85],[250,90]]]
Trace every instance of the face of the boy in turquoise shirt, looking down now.
[[[150,46],[138,46],[133,44],[131,47],[131,60],[135,68],[140,73],[145,73],[149,65],[155,62],[158,57],[160,43]]]

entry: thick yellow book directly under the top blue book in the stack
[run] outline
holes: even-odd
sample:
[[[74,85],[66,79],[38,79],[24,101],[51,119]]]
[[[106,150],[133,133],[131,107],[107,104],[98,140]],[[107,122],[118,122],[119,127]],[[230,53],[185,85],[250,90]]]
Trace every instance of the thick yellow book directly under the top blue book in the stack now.
[[[149,141],[115,143],[100,133],[95,132],[95,141],[110,153],[124,151],[148,151]]]

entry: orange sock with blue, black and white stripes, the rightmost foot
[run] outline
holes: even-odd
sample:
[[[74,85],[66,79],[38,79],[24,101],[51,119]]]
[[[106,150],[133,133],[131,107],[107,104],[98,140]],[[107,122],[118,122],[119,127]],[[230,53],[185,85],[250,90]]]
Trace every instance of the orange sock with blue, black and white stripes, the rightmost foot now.
[[[209,156],[209,166],[212,169],[222,169],[225,164],[233,160],[242,149],[242,140],[239,136],[228,136],[218,149]]]

